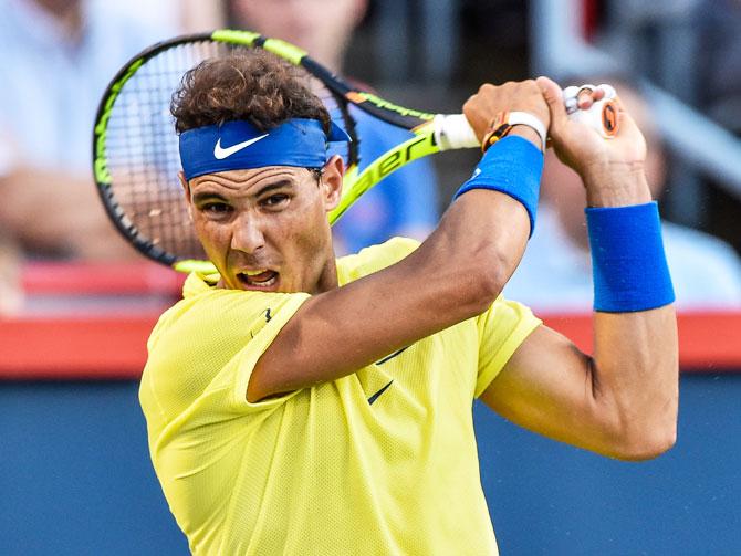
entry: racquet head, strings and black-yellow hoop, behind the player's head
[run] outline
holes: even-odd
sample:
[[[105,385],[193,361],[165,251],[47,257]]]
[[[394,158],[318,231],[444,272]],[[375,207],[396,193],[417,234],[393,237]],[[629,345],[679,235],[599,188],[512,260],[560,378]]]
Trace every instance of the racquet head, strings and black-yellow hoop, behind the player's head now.
[[[206,255],[188,217],[178,178],[181,167],[170,99],[184,74],[203,60],[264,49],[267,42],[250,32],[233,32],[227,38],[230,40],[216,40],[213,34],[181,36],[139,53],[113,78],[96,116],[94,175],[108,216],[138,251],[176,267],[182,267],[184,261],[202,261]],[[303,56],[279,41],[271,45],[280,48],[281,57],[289,61]],[[353,139],[332,143],[328,151],[330,156],[342,156],[352,172],[358,164],[359,138],[348,102],[327,87],[326,78],[310,71],[302,73],[332,120]],[[185,266],[182,270],[196,267]]]

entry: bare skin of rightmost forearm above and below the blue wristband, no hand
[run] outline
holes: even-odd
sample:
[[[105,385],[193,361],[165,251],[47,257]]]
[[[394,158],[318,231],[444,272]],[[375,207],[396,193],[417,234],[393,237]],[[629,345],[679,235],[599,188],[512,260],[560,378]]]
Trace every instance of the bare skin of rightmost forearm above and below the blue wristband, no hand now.
[[[591,207],[650,201],[641,167],[585,176]],[[619,241],[619,239],[616,239]],[[662,253],[657,253],[657,258]],[[674,443],[678,406],[677,324],[674,304],[643,311],[595,311],[593,391],[609,405],[624,455],[643,459]]]

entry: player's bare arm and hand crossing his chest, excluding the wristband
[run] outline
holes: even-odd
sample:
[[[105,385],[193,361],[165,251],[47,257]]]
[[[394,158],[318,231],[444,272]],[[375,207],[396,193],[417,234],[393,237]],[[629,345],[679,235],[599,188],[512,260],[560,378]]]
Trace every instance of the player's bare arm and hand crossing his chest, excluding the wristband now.
[[[534,82],[483,86],[465,112],[479,137],[504,109],[549,112]],[[539,145],[528,128],[516,134]],[[306,301],[258,361],[247,398],[333,380],[483,312],[516,267],[530,233],[511,197],[473,190],[401,262]]]

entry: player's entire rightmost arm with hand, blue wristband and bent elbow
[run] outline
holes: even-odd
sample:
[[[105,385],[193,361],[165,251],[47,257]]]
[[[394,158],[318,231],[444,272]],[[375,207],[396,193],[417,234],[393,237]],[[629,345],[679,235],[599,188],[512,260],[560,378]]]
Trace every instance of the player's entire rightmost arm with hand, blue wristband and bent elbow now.
[[[658,214],[643,171],[645,140],[619,99],[619,130],[605,140],[568,119],[554,82],[538,83],[551,108],[553,148],[587,189],[594,355],[541,326],[482,399],[550,438],[613,458],[655,457],[676,434],[677,329]]]

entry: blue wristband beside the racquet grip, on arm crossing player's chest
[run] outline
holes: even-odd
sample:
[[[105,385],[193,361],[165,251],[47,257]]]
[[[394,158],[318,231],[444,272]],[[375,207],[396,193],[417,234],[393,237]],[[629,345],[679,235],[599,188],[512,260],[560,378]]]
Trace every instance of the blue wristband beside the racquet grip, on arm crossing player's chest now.
[[[543,171],[543,153],[528,139],[510,135],[498,140],[481,157],[473,176],[460,186],[453,200],[471,189],[492,189],[520,201],[535,230],[535,210]]]

